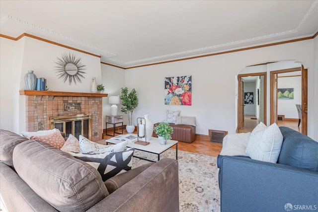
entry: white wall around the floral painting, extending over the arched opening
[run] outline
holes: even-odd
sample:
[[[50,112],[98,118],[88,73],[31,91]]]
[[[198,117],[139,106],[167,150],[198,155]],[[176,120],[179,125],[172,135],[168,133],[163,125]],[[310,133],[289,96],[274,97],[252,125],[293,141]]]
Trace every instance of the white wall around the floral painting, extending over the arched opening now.
[[[159,122],[165,119],[166,110],[180,110],[181,116],[196,117],[197,134],[208,135],[209,129],[235,133],[237,127],[236,75],[239,71],[248,65],[291,60],[300,62],[308,68],[309,119],[318,119],[314,117],[314,101],[318,97],[314,96],[313,92],[313,42],[313,40],[306,40],[126,70],[125,85],[136,88],[139,95],[140,104],[134,118],[149,114],[153,122]],[[264,72],[264,69],[259,72]],[[164,105],[164,77],[179,75],[192,75],[192,106]],[[269,73],[267,79],[269,79]],[[269,83],[265,88],[269,90]],[[269,119],[269,95],[267,98],[267,118]],[[317,129],[317,125],[309,124],[309,136],[314,137],[315,127]]]

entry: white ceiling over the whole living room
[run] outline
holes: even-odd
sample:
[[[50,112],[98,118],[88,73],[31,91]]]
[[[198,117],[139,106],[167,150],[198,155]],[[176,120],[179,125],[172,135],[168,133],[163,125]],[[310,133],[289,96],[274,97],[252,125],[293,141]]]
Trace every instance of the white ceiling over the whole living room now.
[[[128,68],[314,36],[318,0],[0,0],[28,33]]]

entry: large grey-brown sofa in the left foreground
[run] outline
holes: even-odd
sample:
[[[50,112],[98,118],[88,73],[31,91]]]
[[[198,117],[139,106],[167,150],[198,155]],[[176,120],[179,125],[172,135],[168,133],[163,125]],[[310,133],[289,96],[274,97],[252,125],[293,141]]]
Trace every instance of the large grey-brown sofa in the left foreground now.
[[[178,162],[163,158],[105,183],[89,164],[0,130],[0,194],[8,212],[178,212]],[[107,185],[107,186],[106,186]]]

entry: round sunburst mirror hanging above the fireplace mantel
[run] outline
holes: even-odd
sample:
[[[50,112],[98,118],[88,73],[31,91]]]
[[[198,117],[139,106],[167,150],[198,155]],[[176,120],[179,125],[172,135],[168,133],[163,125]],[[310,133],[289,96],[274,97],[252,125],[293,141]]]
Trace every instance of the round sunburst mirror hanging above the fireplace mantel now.
[[[62,58],[57,58],[58,62],[55,62],[57,66],[54,68],[57,68],[56,73],[59,73],[58,76],[59,78],[63,78],[63,82],[65,83],[66,80],[69,79],[69,84],[76,82],[80,82],[80,78],[85,78],[82,74],[86,73],[83,70],[86,70],[82,63],[80,63],[80,58],[75,58],[75,55],[71,56],[71,53],[69,55],[67,54],[62,54]]]

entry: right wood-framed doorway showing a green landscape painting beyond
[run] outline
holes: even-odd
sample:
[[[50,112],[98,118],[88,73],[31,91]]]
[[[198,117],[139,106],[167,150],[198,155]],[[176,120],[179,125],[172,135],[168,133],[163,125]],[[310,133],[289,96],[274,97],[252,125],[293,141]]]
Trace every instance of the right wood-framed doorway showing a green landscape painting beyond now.
[[[298,81],[295,81],[296,77],[299,78]],[[285,80],[288,78],[293,78],[293,80]],[[280,83],[281,81],[283,81],[283,83]],[[287,86],[289,88],[286,87],[286,82],[288,81],[292,81],[289,83],[290,86]],[[282,88],[282,84],[284,88]],[[296,90],[294,90],[294,88],[296,88]],[[286,90],[285,95],[283,93],[284,89]],[[303,66],[271,71],[270,124],[276,123],[278,126],[286,126],[307,135],[307,89],[307,70],[304,69]],[[292,95],[291,92],[293,92]],[[299,117],[296,104],[300,104],[302,108]],[[284,110],[282,110],[282,108],[284,108]],[[293,114],[289,112],[290,109],[294,111]]]

